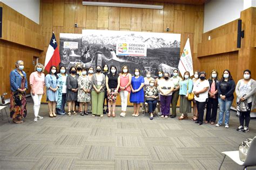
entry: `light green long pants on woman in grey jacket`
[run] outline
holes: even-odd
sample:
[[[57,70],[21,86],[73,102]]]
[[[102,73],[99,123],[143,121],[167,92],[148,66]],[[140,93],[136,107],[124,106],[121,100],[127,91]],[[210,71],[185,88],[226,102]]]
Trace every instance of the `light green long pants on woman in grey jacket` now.
[[[92,95],[92,114],[102,115],[105,93],[104,92],[97,93],[96,91],[93,90],[91,92],[91,95]]]

